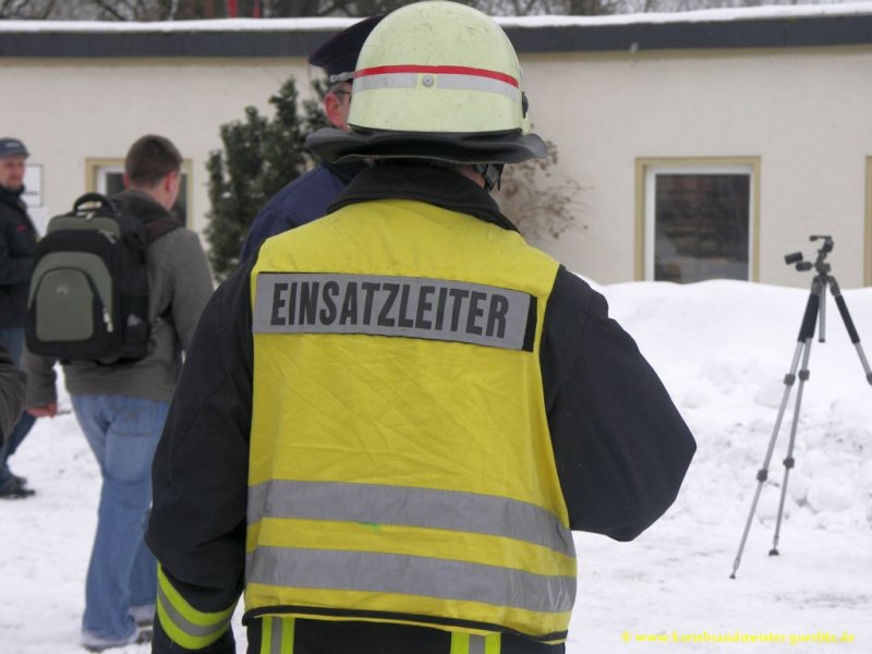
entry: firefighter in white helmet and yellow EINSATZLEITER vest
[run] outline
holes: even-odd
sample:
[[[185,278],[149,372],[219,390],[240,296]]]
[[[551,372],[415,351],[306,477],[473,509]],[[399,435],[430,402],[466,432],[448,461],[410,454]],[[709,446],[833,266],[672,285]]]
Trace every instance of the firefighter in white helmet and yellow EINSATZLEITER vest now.
[[[372,159],[215,293],[154,467],[153,652],[565,651],[572,531],[635,537],[695,449],[604,298],[491,198],[543,157],[516,53],[465,5],[384,19],[350,134]]]

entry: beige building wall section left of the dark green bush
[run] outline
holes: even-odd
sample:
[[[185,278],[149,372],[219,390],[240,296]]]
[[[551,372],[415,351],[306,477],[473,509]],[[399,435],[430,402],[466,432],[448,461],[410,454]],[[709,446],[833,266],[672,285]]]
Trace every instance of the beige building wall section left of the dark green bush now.
[[[192,227],[202,231],[219,126],[242,120],[250,105],[271,113],[268,98],[291,74],[307,97],[302,59],[0,59],[0,82],[16,89],[0,132],[22,138],[28,162],[41,165],[48,215],[68,210],[93,181],[87,160],[123,160],[138,136],[165,135],[189,160]]]

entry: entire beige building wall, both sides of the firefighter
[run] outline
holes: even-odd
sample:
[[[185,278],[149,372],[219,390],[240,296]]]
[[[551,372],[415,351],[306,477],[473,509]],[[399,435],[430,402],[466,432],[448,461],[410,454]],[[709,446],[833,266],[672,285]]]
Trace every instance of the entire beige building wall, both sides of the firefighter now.
[[[752,278],[808,286],[784,264],[829,233],[844,288],[872,284],[872,48],[559,53],[522,57],[535,130],[555,142],[558,174],[581,186],[579,227],[543,243],[601,283],[643,278],[646,162],[755,165]],[[193,227],[208,210],[205,162],[219,125],[243,118],[290,74],[301,95],[316,75],[302,59],[0,58],[0,132],[41,165],[44,213],[66,210],[88,159],[120,159],[137,136],[175,142],[193,172]],[[581,226],[584,226],[582,229]]]

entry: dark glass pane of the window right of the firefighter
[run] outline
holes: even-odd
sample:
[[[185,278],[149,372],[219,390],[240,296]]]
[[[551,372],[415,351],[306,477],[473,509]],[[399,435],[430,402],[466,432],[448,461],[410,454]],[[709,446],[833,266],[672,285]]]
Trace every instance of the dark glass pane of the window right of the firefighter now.
[[[654,279],[749,278],[748,174],[657,174]]]

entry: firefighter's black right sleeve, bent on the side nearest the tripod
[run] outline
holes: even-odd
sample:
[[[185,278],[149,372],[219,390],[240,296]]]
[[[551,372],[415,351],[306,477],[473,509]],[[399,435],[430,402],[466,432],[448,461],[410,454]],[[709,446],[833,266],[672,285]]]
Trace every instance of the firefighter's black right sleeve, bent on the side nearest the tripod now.
[[[540,356],[570,526],[634,538],[675,500],[697,449],[690,431],[605,298],[562,267]]]

